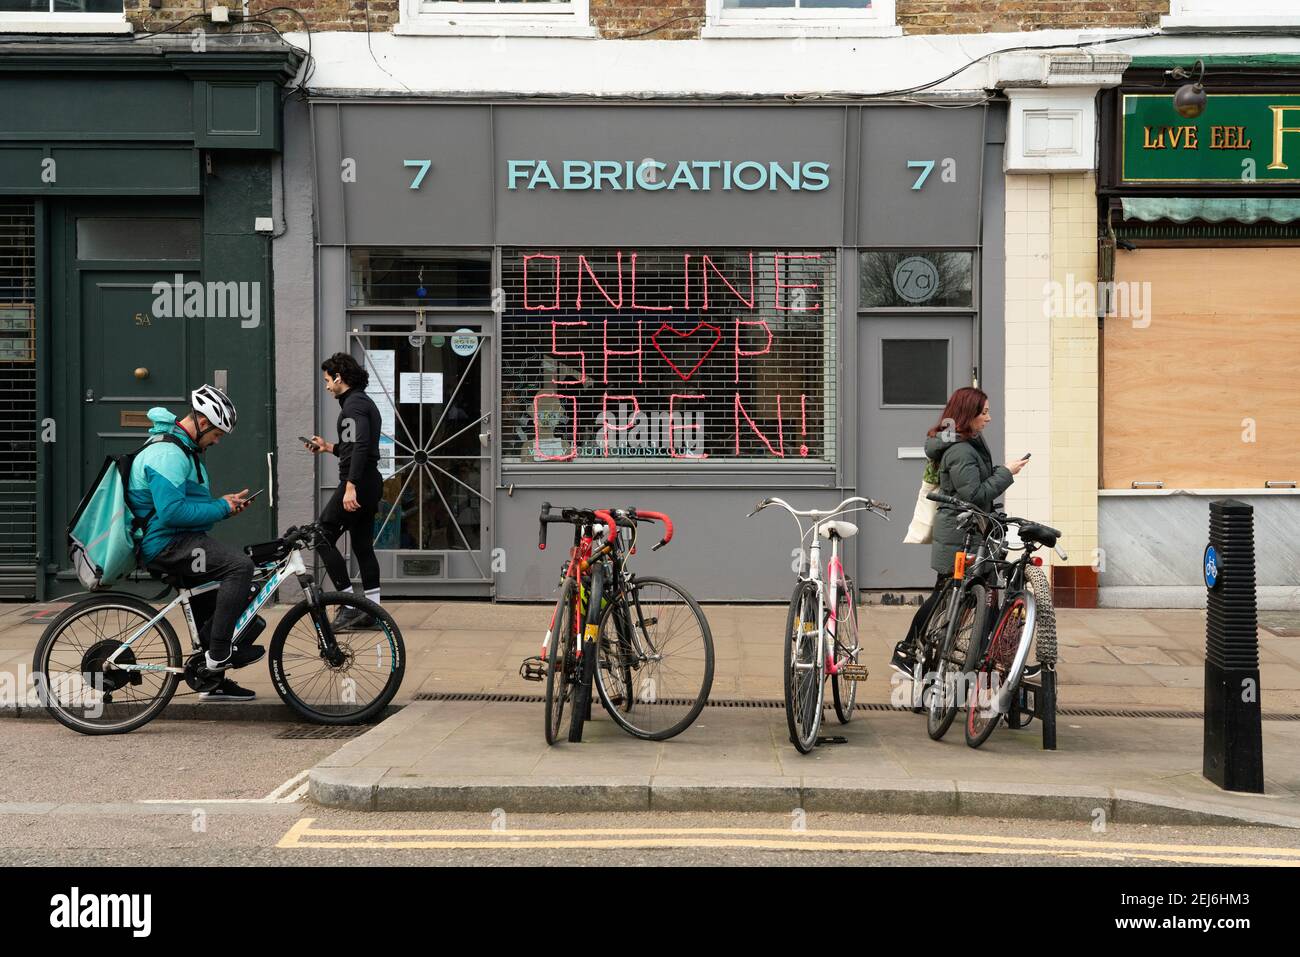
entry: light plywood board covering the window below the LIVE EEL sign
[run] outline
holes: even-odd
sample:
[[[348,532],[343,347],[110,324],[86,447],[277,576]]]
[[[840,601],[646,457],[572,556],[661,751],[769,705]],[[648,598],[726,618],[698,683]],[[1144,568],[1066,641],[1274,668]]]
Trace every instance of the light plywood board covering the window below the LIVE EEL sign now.
[[[1296,277],[1296,247],[1115,254],[1101,343],[1102,488],[1300,482]],[[1089,319],[1091,304],[1063,308]]]

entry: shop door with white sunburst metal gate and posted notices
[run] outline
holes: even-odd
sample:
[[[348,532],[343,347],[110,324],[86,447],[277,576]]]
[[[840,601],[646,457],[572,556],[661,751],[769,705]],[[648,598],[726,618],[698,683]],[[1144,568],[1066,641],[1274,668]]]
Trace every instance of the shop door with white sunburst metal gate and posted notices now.
[[[490,594],[491,316],[354,316],[352,355],[380,407],[386,593]]]

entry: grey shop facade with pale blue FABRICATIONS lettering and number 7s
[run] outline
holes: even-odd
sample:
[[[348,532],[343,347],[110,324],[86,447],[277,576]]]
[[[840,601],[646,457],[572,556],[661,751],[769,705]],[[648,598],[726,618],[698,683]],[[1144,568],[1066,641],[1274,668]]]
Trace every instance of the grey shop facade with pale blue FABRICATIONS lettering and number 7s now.
[[[1001,404],[1005,348],[1005,111],[944,105],[313,99],[316,361],[370,372],[385,594],[549,596],[551,502],[667,512],[641,571],[780,601],[766,495],[892,503],[849,573],[932,584],[924,432],[959,385]]]

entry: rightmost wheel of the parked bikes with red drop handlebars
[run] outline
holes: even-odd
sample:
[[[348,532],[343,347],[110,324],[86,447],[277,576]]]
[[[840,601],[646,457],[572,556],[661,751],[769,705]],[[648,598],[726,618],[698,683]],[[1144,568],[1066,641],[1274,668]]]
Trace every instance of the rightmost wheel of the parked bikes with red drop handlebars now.
[[[699,716],[714,687],[714,635],[680,585],[637,577],[601,615],[595,688],[614,722],[664,741]]]

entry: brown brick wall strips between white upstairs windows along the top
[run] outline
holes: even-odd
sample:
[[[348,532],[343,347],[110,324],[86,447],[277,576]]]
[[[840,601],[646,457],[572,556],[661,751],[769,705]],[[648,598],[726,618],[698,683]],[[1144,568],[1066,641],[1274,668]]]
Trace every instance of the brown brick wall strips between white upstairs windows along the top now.
[[[162,30],[213,0],[162,0],[151,9],[148,0],[125,0],[127,17],[138,30]],[[313,30],[386,31],[398,21],[398,0],[255,0],[256,16],[283,1],[300,10]],[[238,0],[226,3],[239,9]],[[592,23],[606,38],[682,40],[699,35],[705,0],[590,0]],[[1169,0],[897,0],[898,25],[909,34],[1015,33],[1053,27],[1144,27],[1156,26],[1169,13]],[[472,16],[472,14],[468,14]],[[280,30],[299,30],[290,13],[264,17]],[[191,21],[178,31],[190,31]]]

